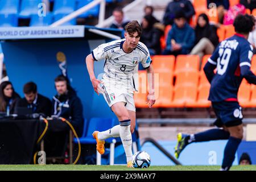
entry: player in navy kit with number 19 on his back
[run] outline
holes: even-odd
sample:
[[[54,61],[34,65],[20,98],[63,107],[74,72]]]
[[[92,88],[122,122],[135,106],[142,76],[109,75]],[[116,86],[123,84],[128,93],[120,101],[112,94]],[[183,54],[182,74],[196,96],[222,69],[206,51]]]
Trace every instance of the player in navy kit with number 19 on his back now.
[[[247,42],[255,19],[250,15],[238,15],[234,20],[236,34],[222,41],[205,64],[204,72],[210,82],[209,100],[216,114],[216,125],[222,129],[211,129],[202,133],[177,135],[175,156],[192,142],[228,139],[224,150],[221,170],[228,171],[234,161],[237,148],[243,138],[242,108],[237,100],[241,81],[245,78],[256,84],[256,76],[250,71],[253,47]],[[214,69],[217,68],[217,73]]]

